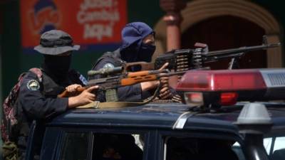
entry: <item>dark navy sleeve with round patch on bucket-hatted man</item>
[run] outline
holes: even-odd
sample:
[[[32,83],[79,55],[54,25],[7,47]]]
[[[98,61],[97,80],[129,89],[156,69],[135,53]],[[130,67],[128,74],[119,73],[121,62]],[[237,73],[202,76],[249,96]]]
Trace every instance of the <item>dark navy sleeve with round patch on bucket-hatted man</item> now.
[[[68,107],[68,98],[46,98],[43,85],[33,73],[28,73],[21,83],[19,104],[30,119],[50,119]]]

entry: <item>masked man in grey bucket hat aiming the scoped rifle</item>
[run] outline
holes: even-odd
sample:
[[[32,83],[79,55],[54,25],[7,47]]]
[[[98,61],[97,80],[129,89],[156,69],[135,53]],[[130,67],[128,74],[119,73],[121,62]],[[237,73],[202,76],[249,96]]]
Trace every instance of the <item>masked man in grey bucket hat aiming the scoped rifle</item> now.
[[[74,92],[76,87],[86,83],[81,74],[70,69],[71,53],[79,48],[80,46],[73,45],[73,39],[68,33],[57,30],[43,33],[40,45],[34,48],[43,54],[44,60],[41,69],[26,73],[21,82],[18,106],[19,112],[23,114],[21,135],[18,138],[21,158],[24,158],[23,153],[32,122],[37,123],[35,148],[36,152],[39,152],[46,121],[68,109],[95,100],[95,95],[91,91],[97,86],[89,87],[76,97],[57,97],[64,90]]]

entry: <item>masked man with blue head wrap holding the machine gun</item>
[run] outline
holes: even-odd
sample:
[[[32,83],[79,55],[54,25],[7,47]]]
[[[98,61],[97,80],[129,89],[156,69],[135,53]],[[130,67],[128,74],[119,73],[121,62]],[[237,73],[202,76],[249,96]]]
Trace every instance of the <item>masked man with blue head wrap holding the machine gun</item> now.
[[[123,44],[113,52],[107,52],[100,57],[92,70],[100,68],[114,68],[123,63],[133,63],[139,61],[150,62],[155,52],[155,32],[146,23],[128,23],[122,31]],[[166,65],[162,68],[165,68]],[[131,71],[138,71],[138,68],[131,68]],[[95,75],[90,79],[102,78]],[[160,97],[169,97],[167,78],[162,78],[162,92]],[[136,85],[118,88],[119,101],[140,101],[152,95],[153,90],[160,84],[158,80],[151,82],[141,82]],[[98,101],[105,102],[105,93],[98,93]]]

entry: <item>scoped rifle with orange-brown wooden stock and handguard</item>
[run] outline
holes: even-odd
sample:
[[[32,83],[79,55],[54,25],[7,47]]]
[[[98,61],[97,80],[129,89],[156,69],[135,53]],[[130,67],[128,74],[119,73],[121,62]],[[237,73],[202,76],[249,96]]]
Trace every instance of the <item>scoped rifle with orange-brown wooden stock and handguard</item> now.
[[[102,68],[98,71],[90,70],[88,75],[94,74],[105,74],[106,72],[118,72],[122,70],[121,67],[118,68]],[[152,80],[159,80],[161,77],[171,76],[171,75],[182,75],[186,73],[187,70],[170,73],[169,70],[144,70],[133,73],[123,73],[121,75],[110,76],[107,78],[98,78],[95,80],[89,80],[86,87],[78,87],[76,92],[68,92],[67,90],[63,91],[58,97],[72,97],[79,95],[83,90],[86,90],[88,87],[98,85],[99,88],[97,92],[102,90],[113,90],[118,87],[123,87],[127,85],[135,85],[140,82],[148,82]],[[114,100],[113,100],[114,101]]]

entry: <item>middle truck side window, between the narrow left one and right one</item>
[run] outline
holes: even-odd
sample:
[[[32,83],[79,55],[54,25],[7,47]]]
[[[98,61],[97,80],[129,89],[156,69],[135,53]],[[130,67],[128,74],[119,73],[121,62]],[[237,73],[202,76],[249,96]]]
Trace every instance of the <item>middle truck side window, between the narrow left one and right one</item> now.
[[[138,134],[94,134],[93,160],[141,160]],[[140,140],[139,140],[140,141]],[[137,143],[136,143],[137,142]]]

